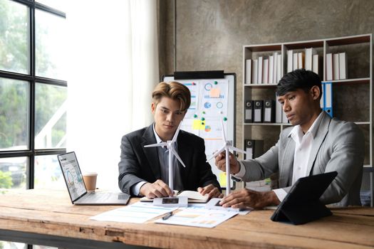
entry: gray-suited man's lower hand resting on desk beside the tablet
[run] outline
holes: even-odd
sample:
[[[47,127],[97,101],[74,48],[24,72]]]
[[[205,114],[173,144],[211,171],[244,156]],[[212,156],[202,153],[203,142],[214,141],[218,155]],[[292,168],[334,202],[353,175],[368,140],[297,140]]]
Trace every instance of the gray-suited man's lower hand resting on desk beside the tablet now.
[[[258,192],[250,189],[234,191],[224,197],[219,203],[224,208],[264,208],[264,206],[279,205],[280,201],[274,191]]]

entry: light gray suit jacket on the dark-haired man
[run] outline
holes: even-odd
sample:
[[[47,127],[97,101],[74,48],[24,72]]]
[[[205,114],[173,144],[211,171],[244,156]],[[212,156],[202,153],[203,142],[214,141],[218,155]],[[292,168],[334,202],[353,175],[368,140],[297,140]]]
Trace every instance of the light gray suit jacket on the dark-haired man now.
[[[288,135],[292,128],[284,129],[276,145],[261,157],[242,161],[246,169],[243,181],[258,181],[279,172],[279,188],[286,192],[291,189],[295,142]],[[336,179],[321,196],[323,203],[361,205],[364,146],[363,133],[356,124],[331,119],[323,112],[307,167],[309,175],[338,171]]]

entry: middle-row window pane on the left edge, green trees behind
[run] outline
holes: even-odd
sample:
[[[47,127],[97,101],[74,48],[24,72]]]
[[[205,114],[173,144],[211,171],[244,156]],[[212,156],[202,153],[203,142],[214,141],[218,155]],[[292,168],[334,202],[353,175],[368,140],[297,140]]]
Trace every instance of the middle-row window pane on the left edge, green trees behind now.
[[[28,148],[26,81],[0,78],[0,150]]]

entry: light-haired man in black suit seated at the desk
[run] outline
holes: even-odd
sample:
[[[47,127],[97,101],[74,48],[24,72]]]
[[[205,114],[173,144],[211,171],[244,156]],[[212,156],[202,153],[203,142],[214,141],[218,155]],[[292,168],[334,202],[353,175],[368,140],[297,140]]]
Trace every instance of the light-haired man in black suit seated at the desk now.
[[[152,92],[152,100],[155,122],[123,136],[118,164],[121,191],[147,198],[172,196],[173,192],[165,184],[169,182],[169,152],[162,147],[144,146],[172,140],[186,115],[191,94],[180,83],[160,83]],[[217,177],[206,162],[204,139],[180,130],[175,149],[186,165],[183,167],[174,157],[175,190],[199,191],[209,197],[222,196]]]

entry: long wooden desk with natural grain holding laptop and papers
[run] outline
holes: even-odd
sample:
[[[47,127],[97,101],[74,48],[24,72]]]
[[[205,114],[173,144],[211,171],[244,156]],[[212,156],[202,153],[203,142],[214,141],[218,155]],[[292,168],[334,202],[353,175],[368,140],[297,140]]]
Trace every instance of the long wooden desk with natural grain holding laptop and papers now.
[[[271,221],[273,211],[235,216],[216,228],[89,219],[113,208],[118,206],[73,206],[63,190],[0,194],[0,240],[64,248],[374,247],[374,208],[333,209],[333,216],[301,226]]]

